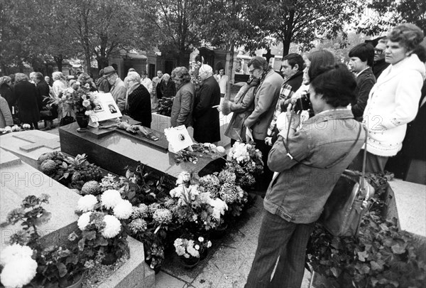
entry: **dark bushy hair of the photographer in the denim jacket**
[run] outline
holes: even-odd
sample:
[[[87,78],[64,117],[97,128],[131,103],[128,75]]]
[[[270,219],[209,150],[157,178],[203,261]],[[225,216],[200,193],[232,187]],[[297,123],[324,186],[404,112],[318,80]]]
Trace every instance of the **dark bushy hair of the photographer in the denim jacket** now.
[[[356,79],[346,65],[339,63],[324,68],[325,71],[318,75],[310,85],[316,93],[332,107],[346,107],[356,103]]]

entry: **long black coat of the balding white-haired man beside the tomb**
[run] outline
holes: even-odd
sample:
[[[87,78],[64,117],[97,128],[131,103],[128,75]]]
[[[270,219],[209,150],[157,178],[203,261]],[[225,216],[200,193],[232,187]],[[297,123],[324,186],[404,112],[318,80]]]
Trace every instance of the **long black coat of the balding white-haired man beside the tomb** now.
[[[195,96],[194,139],[199,143],[220,141],[219,111],[213,108],[220,103],[220,87],[214,77],[202,83]]]

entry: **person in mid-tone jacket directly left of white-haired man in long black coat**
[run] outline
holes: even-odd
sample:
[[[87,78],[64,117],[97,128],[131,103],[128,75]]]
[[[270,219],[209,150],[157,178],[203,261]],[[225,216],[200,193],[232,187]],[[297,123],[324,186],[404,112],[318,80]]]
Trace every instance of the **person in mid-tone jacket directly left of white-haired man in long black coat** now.
[[[173,100],[170,122],[172,127],[185,125],[192,126],[192,110],[194,109],[195,87],[187,68],[177,67],[172,71],[172,80],[175,82],[176,93]]]

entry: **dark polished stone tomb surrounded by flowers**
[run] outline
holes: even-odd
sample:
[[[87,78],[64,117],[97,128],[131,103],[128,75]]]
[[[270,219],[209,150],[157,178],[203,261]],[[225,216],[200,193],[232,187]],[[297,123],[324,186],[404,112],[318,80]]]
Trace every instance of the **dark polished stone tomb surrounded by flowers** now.
[[[59,128],[62,152],[72,156],[87,154],[90,163],[121,176],[126,173],[126,166],[136,167],[142,163],[146,172],[158,177],[165,176],[166,185],[174,187],[180,172],[190,171],[201,176],[204,171],[217,171],[214,167],[219,161],[224,162],[222,158],[204,155],[199,157],[197,164],[176,163],[175,154],[148,146],[131,135],[113,132],[96,139],[77,132],[77,127],[77,123],[72,123]]]

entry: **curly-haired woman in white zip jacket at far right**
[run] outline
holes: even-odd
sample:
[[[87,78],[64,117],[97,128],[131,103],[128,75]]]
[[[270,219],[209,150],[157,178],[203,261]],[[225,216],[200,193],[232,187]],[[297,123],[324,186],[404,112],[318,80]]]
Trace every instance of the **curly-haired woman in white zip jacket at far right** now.
[[[425,65],[413,53],[421,48],[423,32],[414,24],[404,23],[388,33],[383,70],[368,95],[363,123],[368,129],[367,172],[382,172],[388,158],[403,146],[408,122],[417,114]],[[424,49],[424,48],[422,48]],[[362,168],[362,151],[351,169]]]

